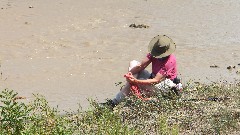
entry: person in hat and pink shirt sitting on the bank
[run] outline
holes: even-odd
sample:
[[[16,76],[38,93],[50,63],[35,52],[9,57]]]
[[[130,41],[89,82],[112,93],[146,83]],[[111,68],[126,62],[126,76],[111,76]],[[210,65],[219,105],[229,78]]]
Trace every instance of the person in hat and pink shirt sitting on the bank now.
[[[125,75],[127,80],[125,86],[115,98],[107,100],[102,105],[115,107],[126,96],[132,95],[132,85],[139,87],[141,93],[147,97],[151,97],[159,91],[167,92],[172,88],[178,94],[182,87],[177,78],[176,57],[173,55],[175,49],[176,44],[168,36],[158,35],[154,37],[148,45],[149,53],[142,62],[136,60],[130,62],[128,73]],[[150,63],[152,64],[151,73],[145,70]]]

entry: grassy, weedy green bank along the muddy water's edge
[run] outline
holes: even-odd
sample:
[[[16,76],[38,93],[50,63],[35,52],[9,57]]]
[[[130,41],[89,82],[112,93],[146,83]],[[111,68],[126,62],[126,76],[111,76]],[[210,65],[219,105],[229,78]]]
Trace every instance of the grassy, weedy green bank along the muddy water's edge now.
[[[181,97],[130,97],[113,111],[90,100],[88,110],[79,105],[65,115],[34,96],[26,103],[13,90],[1,91],[0,134],[240,134],[240,83],[188,83]]]

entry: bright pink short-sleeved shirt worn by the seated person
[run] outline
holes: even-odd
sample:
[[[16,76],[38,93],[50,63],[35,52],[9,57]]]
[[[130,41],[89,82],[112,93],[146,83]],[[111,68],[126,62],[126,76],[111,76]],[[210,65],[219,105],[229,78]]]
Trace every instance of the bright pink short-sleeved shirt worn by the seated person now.
[[[152,73],[160,73],[166,78],[173,80],[177,77],[177,64],[176,57],[171,54],[166,59],[154,58],[150,53],[147,54],[147,58],[152,62]]]

